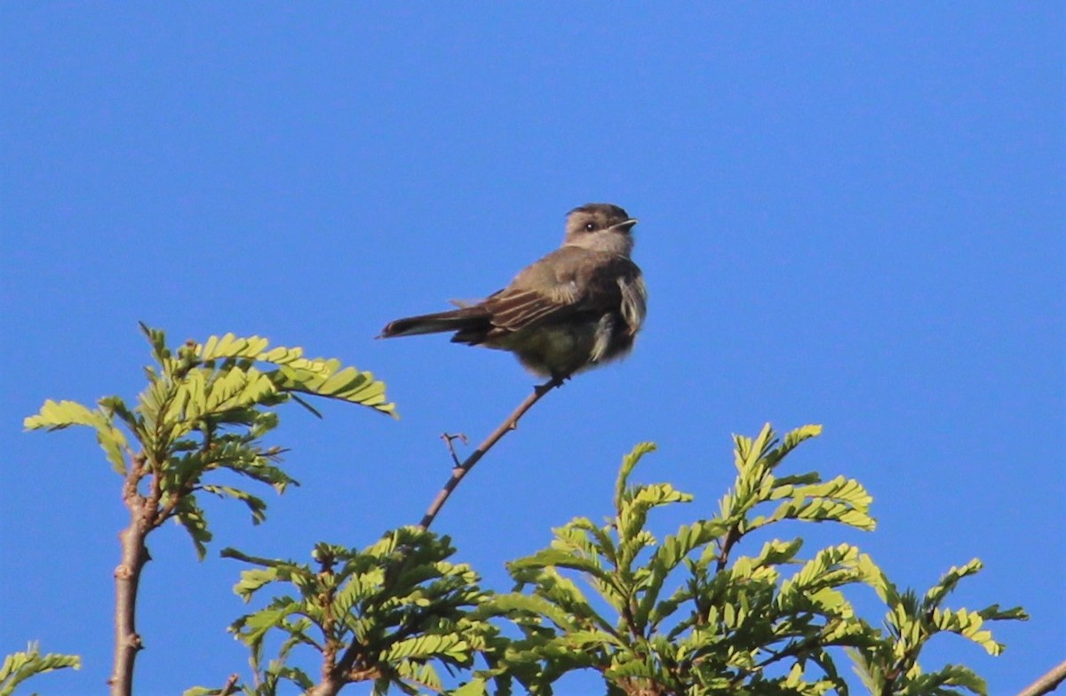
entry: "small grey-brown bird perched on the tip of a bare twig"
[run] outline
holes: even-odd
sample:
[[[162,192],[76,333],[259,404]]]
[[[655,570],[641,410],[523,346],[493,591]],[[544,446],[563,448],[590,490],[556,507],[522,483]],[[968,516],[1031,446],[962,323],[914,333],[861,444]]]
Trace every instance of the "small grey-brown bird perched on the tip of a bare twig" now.
[[[554,379],[620,358],[647,306],[641,269],[629,258],[635,224],[609,203],[575,208],[563,246],[507,287],[477,304],[397,319],[378,338],[453,331],[452,343],[510,350]]]

